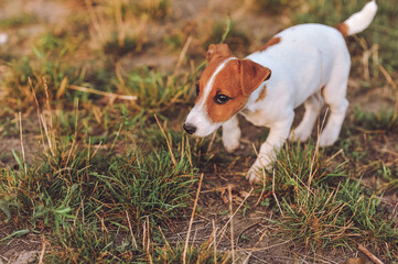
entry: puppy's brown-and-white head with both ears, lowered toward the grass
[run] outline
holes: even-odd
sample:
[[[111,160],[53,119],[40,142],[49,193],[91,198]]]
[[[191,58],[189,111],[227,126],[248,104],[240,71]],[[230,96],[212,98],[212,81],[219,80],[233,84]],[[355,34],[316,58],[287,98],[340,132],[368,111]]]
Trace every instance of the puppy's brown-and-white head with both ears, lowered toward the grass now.
[[[208,47],[207,67],[196,84],[196,101],[184,129],[195,136],[206,136],[233,118],[271,70],[249,59],[233,56],[228,45]]]

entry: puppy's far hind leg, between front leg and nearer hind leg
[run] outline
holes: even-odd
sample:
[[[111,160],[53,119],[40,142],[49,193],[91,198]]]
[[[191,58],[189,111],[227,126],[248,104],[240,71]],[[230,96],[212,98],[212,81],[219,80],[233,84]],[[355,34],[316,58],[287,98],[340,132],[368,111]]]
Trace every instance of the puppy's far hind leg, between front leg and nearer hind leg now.
[[[303,142],[310,138],[323,103],[323,98],[319,92],[312,95],[305,100],[304,117],[301,120],[300,124],[290,132],[289,140],[297,140]]]

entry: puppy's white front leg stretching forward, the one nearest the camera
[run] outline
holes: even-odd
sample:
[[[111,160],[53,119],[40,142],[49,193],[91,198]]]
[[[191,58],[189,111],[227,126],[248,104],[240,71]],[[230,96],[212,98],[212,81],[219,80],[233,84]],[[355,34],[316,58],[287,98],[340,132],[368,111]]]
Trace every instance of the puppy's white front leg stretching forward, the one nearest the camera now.
[[[277,122],[270,127],[267,141],[261,144],[258,157],[246,175],[246,178],[250,183],[261,180],[263,175],[262,169],[269,170],[271,168],[272,162],[277,158],[277,152],[288,139],[293,116],[294,114],[291,114],[287,120]]]

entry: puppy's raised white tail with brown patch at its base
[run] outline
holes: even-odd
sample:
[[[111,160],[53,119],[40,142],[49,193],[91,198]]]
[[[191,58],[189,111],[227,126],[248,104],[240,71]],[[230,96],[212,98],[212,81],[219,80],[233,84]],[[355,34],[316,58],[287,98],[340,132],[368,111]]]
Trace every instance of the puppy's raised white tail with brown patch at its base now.
[[[336,29],[344,35],[354,35],[364,31],[370,25],[377,12],[377,4],[375,0],[366,3],[365,7],[357,13],[351,15],[346,21],[340,23]]]

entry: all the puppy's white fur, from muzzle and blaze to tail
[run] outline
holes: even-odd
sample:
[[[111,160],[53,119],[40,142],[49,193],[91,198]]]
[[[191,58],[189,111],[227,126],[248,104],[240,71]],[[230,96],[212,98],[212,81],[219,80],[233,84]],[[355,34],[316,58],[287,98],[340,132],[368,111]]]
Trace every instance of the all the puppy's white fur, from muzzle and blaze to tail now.
[[[368,2],[362,11],[344,22],[347,29],[345,33],[351,35],[365,30],[376,11],[376,2]],[[270,168],[276,151],[289,138],[294,108],[304,103],[305,113],[301,123],[290,133],[290,139],[305,141],[311,135],[324,101],[327,103],[331,114],[320,135],[320,145],[327,146],[337,140],[348,107],[345,96],[351,58],[341,32],[327,25],[302,24],[289,28],[275,37],[279,37],[280,43],[247,56],[247,59],[272,72],[271,78],[251,92],[246,106],[239,111],[255,125],[270,128],[267,141],[262,143],[258,157],[247,174],[250,182],[259,180],[259,169]],[[228,58],[233,59],[237,58]],[[226,62],[214,72],[213,80],[225,65]],[[197,128],[194,133],[196,136],[208,135],[223,127],[224,146],[233,152],[239,146],[241,134],[237,117],[234,116],[224,123],[213,123],[204,106],[213,88],[212,79],[185,123]],[[267,95],[258,100],[265,86]]]

